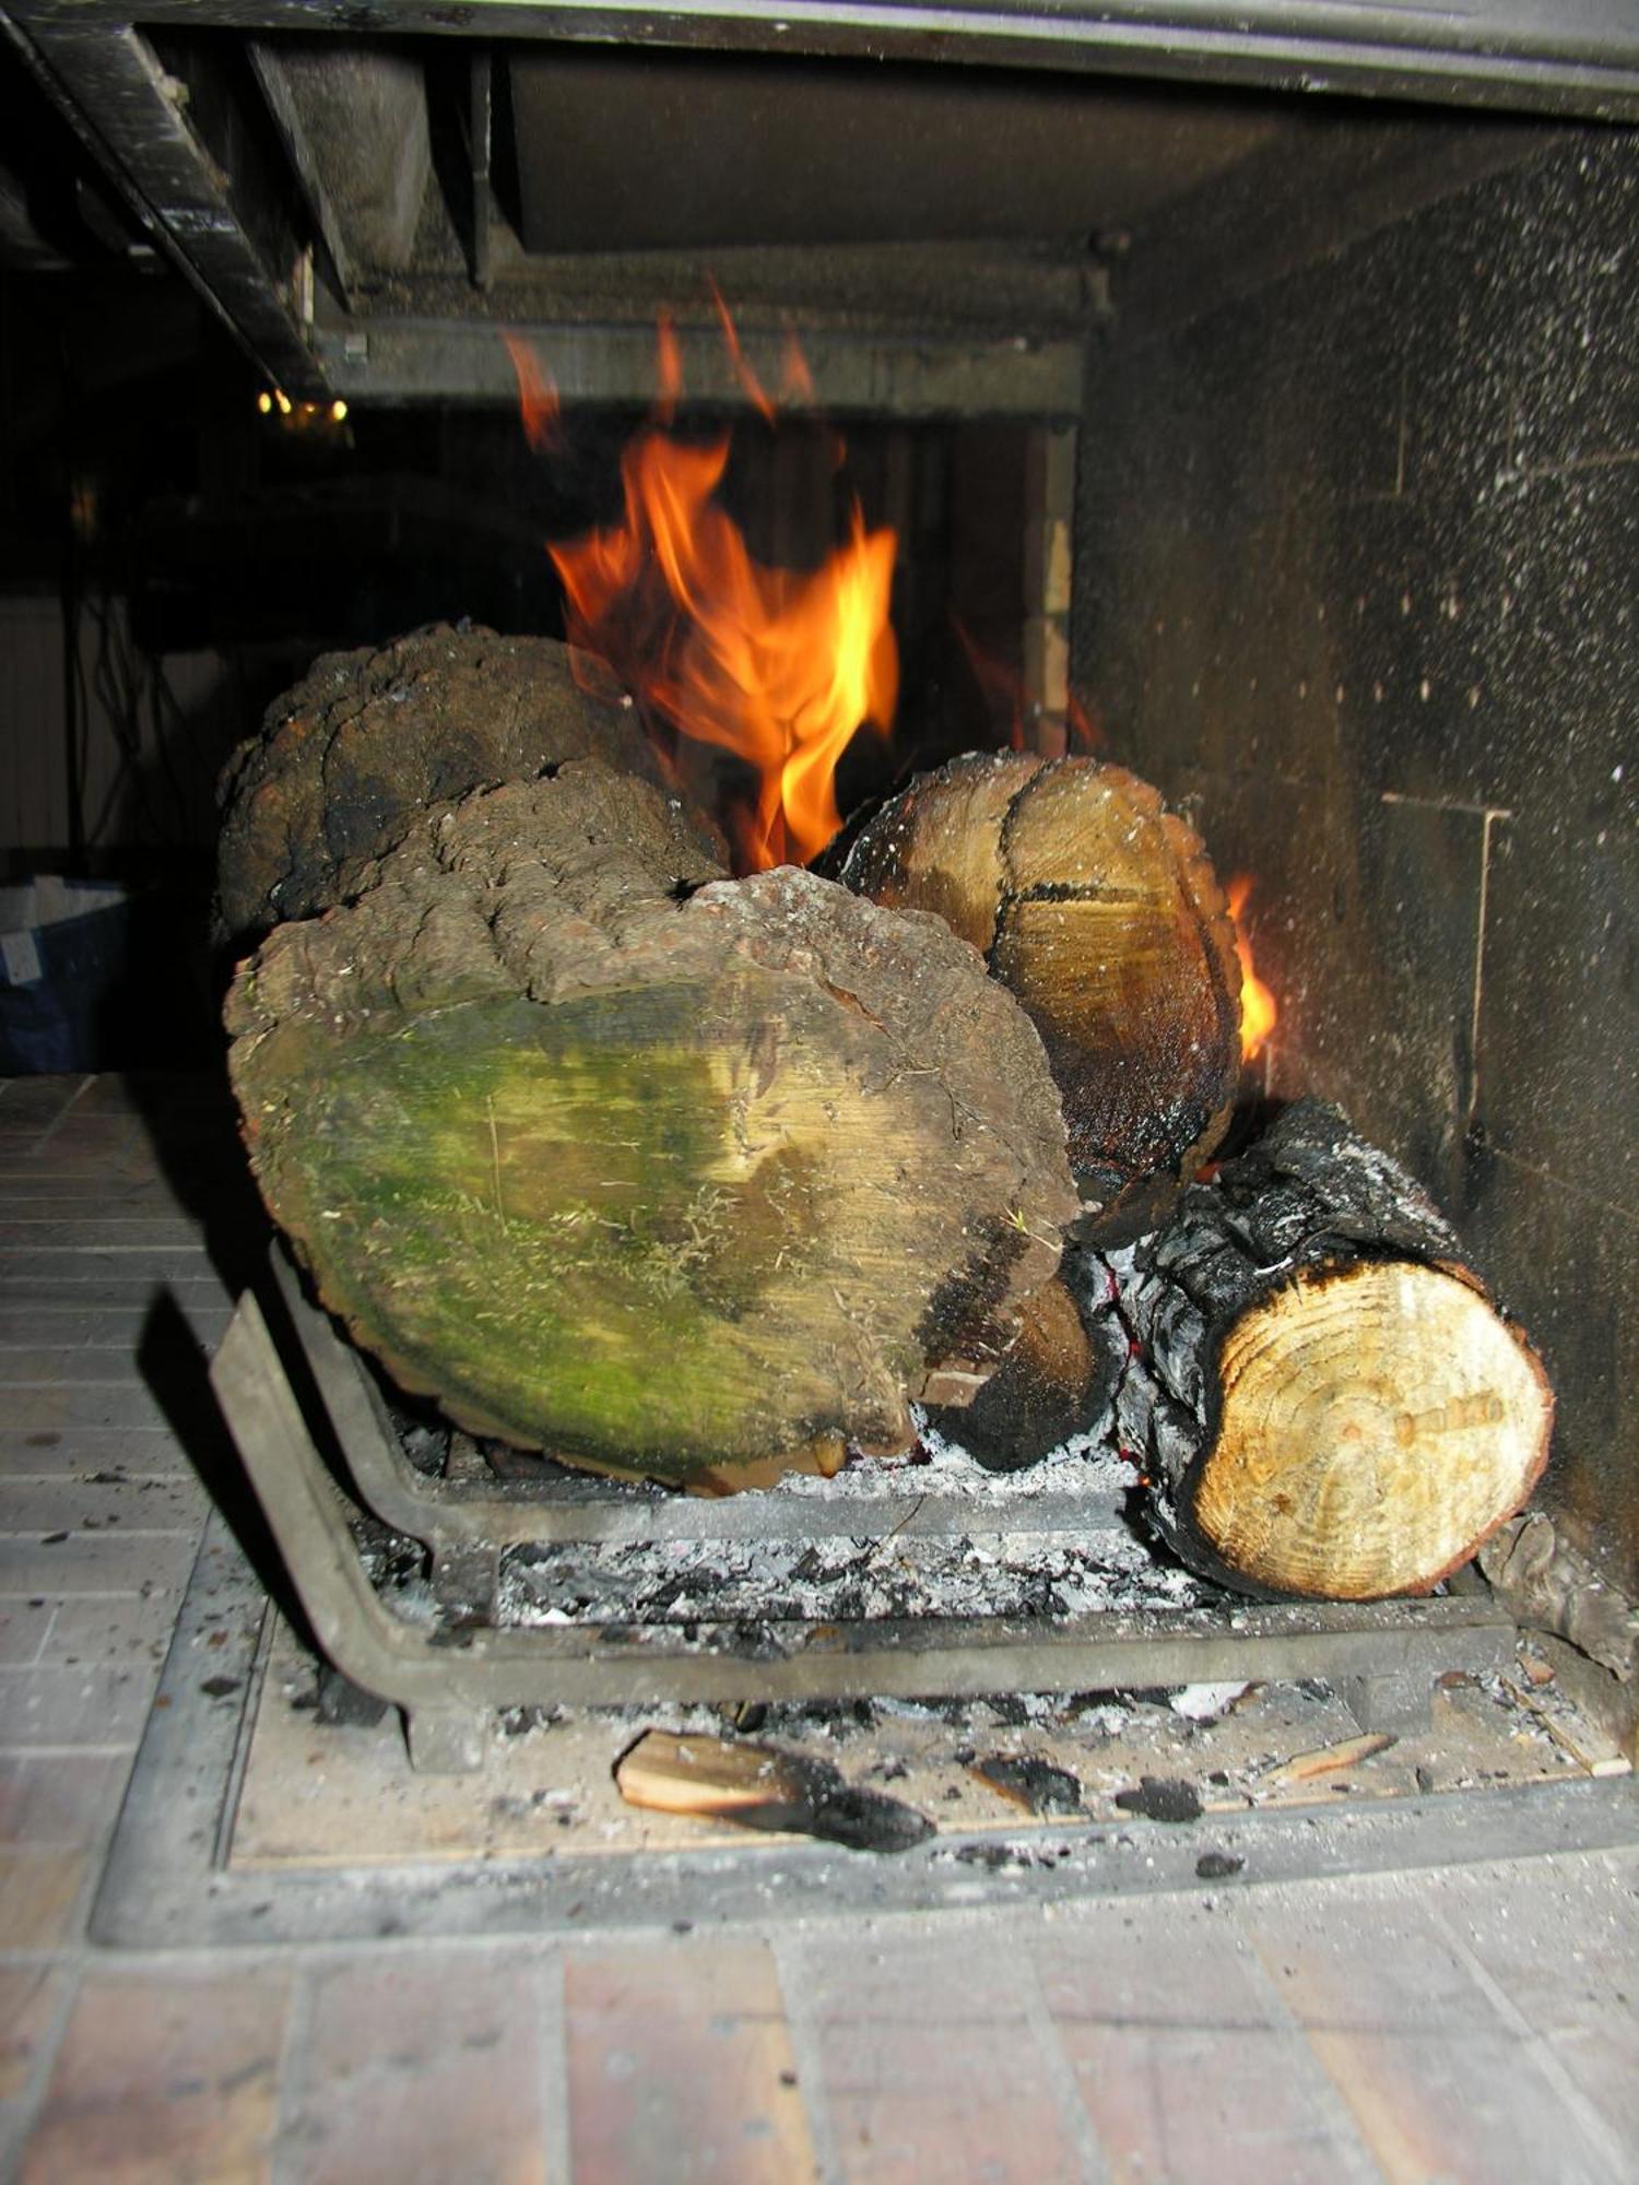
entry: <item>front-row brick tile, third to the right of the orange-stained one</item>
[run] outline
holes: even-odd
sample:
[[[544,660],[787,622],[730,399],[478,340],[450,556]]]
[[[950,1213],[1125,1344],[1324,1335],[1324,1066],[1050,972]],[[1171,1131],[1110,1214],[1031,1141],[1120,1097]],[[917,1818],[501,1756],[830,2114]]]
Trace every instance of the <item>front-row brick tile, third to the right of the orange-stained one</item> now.
[[[1604,2150],[1418,1901],[1353,1886],[1248,1899],[1241,1916],[1394,2185],[1604,2185]]]

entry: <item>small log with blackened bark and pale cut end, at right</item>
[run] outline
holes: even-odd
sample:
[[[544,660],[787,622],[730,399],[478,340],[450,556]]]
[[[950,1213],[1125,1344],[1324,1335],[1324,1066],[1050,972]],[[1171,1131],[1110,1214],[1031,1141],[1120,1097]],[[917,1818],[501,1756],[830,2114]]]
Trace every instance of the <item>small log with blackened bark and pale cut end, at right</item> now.
[[[1521,1508],[1554,1398],[1423,1189],[1300,1101],[1112,1254],[1158,1530],[1263,1597],[1427,1593]]]

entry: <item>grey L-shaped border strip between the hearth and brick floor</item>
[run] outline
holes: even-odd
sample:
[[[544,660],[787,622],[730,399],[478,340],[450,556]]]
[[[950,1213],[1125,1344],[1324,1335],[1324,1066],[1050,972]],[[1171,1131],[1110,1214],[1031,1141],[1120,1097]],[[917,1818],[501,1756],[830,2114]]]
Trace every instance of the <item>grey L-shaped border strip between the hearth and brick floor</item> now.
[[[1632,1774],[1204,1811],[1187,1824],[1099,1814],[986,1827],[953,1816],[894,1857],[745,1833],[701,1849],[389,1864],[243,1864],[234,1855],[275,1613],[214,1514],[92,1912],[116,1949],[382,1938],[575,1936],[597,1929],[962,1914],[1112,1894],[1222,1892],[1639,1844]],[[345,1733],[317,1731],[319,1737]],[[396,1735],[396,1724],[393,1724]],[[549,1741],[549,1728],[538,1739]],[[636,1735],[636,1731],[634,1731]],[[546,1746],[542,1746],[546,1750]],[[1593,1763],[1617,1765],[1617,1763]],[[422,1779],[424,1781],[424,1779]],[[483,1776],[444,1781],[485,1798]],[[964,1824],[966,1822],[966,1824]],[[686,1824],[684,1824],[686,1827]]]

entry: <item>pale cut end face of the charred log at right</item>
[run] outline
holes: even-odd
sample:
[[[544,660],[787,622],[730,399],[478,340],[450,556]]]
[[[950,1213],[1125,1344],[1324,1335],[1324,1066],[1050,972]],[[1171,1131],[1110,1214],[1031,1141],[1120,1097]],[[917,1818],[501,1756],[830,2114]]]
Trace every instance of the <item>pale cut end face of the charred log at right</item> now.
[[[1217,1438],[1187,1516],[1270,1591],[1427,1591],[1547,1462],[1541,1363],[1440,1267],[1305,1267],[1228,1328],[1217,1377]]]

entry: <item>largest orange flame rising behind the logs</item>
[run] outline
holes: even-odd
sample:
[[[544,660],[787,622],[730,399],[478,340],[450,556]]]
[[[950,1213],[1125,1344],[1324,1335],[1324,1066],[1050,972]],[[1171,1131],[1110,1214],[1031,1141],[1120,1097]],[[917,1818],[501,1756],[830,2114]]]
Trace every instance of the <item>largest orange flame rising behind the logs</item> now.
[[[723,326],[739,358],[726,310]],[[610,664],[651,725],[754,769],[756,789],[732,815],[741,870],[806,863],[841,826],[835,771],[854,730],[885,732],[894,719],[896,538],[868,531],[854,505],[848,540],[822,568],[760,566],[712,498],[728,437],[699,446],[662,430],[682,391],[664,321],[660,389],[658,422],[621,457],[623,522],[549,548],[568,638]]]

